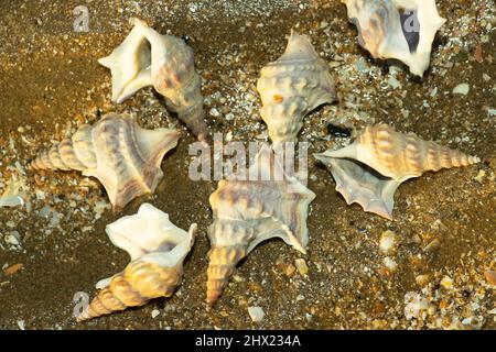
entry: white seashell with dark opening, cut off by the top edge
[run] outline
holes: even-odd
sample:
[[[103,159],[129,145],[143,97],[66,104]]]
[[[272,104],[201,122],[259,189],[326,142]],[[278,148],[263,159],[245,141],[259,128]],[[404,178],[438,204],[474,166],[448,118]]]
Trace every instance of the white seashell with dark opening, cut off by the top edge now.
[[[358,43],[374,58],[399,59],[423,76],[435,33],[446,21],[435,0],[342,0],[358,29]]]

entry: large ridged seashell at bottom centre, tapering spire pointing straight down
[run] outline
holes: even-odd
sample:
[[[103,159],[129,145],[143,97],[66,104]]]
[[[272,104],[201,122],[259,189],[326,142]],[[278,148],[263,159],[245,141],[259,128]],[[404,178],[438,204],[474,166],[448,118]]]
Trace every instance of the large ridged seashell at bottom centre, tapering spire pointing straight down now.
[[[249,175],[270,170],[267,180],[220,180],[209,197],[214,222],[208,228],[207,305],[222,295],[238,262],[260,242],[281,238],[305,253],[306,216],[315,195],[284,174],[273,152],[265,147]]]

